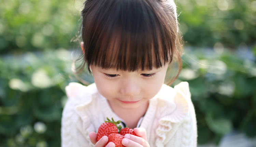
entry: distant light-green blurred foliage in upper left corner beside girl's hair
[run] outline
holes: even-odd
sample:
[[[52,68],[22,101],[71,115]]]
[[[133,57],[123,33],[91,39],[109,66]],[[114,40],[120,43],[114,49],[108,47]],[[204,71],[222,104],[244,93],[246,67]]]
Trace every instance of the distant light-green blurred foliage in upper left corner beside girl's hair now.
[[[0,0],[0,54],[70,47],[82,1]]]

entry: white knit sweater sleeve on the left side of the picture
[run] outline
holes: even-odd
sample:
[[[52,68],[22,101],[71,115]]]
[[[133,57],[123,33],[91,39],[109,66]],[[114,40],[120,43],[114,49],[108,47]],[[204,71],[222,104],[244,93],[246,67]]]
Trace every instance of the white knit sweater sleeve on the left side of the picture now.
[[[78,86],[78,87],[77,87]],[[80,104],[79,97],[74,89],[83,88],[77,84],[66,87],[68,101],[63,109],[61,118],[61,147],[93,147],[88,132],[84,130],[83,121],[75,107]]]

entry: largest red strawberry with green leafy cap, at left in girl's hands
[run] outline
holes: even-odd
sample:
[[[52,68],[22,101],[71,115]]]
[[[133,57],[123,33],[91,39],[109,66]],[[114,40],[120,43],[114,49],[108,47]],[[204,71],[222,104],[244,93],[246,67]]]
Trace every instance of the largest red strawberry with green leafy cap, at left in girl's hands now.
[[[112,133],[118,133],[117,124],[119,124],[121,121],[115,122],[113,118],[112,118],[112,121],[110,121],[108,117],[107,117],[107,120],[108,121],[105,121],[105,123],[101,124],[98,129],[97,141],[99,141],[101,137],[105,135],[109,136]]]

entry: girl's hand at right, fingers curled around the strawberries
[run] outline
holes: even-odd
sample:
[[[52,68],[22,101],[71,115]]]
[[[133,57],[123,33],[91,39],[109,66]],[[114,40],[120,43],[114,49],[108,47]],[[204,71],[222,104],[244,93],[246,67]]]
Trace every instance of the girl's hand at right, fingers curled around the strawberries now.
[[[134,128],[133,132],[137,135],[125,134],[122,144],[126,147],[150,147],[147,142],[147,134],[144,128]]]

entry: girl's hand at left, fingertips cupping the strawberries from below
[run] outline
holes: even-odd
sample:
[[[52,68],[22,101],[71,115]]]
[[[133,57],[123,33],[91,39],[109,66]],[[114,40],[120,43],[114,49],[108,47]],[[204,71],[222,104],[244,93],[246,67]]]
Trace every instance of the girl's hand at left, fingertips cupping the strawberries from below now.
[[[104,147],[106,145],[106,143],[108,143],[108,141],[109,141],[108,136],[103,136],[97,142],[97,133],[95,133],[95,132],[90,132],[89,137],[90,137],[91,143],[93,143],[95,145],[95,147]],[[106,147],[115,147],[115,144],[113,142],[110,142],[110,143],[108,143],[108,145],[106,145]]]

